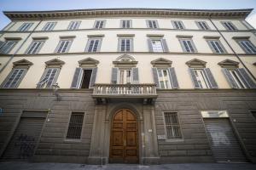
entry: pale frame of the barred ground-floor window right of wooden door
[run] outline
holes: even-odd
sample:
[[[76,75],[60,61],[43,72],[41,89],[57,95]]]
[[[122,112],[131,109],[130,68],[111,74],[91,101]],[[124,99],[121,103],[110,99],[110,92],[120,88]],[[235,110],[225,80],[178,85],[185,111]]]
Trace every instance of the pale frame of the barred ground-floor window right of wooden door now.
[[[166,125],[166,113],[171,113],[171,114],[175,114],[175,116],[177,117],[177,123],[172,123],[170,125]],[[177,140],[183,140],[183,133],[182,133],[182,127],[181,127],[181,123],[180,123],[180,118],[178,116],[178,112],[177,111],[163,111],[162,112],[162,116],[163,116],[163,122],[164,122],[164,129],[165,129],[165,134],[166,134],[166,141],[177,141]],[[170,121],[172,122],[172,121]],[[175,126],[177,126],[178,131],[179,131],[179,136],[176,137],[172,137],[172,138],[168,138],[168,133],[167,133],[167,126],[170,126],[172,128],[172,133],[174,133],[174,128]]]

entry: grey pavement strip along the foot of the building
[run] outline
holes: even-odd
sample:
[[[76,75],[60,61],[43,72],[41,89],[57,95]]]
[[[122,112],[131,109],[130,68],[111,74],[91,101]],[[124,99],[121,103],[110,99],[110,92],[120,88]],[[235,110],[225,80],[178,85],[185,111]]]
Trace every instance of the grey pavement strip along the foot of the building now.
[[[30,163],[30,162],[0,162],[1,170],[255,170],[252,163],[183,163],[163,165],[128,165],[108,164],[103,166],[72,163]]]

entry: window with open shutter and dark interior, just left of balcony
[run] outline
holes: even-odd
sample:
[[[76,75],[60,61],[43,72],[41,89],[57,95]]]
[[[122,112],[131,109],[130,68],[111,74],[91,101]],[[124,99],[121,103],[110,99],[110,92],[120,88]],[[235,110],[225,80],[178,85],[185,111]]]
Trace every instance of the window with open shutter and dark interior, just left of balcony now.
[[[97,68],[76,68],[71,88],[92,88],[96,81]]]

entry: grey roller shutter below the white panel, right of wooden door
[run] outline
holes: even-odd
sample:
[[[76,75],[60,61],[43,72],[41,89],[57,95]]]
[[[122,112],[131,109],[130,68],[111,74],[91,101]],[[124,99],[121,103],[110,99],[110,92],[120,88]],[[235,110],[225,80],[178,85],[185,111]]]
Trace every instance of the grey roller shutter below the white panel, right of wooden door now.
[[[247,161],[229,119],[204,119],[216,161]]]

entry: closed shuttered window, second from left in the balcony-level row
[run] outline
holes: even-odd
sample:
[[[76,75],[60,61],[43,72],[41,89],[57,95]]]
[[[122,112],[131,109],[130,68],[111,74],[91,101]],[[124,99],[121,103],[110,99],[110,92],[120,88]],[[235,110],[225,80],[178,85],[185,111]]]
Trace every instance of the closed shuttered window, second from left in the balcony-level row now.
[[[59,76],[60,68],[46,68],[37,88],[52,88]]]

